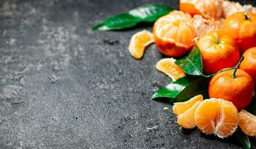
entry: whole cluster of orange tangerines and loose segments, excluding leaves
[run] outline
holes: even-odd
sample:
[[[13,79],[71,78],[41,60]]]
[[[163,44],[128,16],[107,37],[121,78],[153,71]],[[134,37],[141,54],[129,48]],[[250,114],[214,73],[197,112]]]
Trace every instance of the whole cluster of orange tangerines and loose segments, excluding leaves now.
[[[255,94],[256,83],[256,13],[236,12],[223,17],[222,0],[181,0],[180,11],[173,10],[155,23],[153,34],[140,31],[131,38],[129,51],[143,57],[152,42],[168,57],[181,57],[197,46],[202,54],[203,72],[215,74],[234,67],[243,56],[239,69],[216,73],[210,80],[210,99],[197,95],[175,103],[178,124],[221,138],[231,136],[239,126],[248,136],[256,136],[256,116],[243,110]],[[177,80],[186,74],[174,58],[157,63],[160,72]],[[240,111],[240,112],[239,112]]]

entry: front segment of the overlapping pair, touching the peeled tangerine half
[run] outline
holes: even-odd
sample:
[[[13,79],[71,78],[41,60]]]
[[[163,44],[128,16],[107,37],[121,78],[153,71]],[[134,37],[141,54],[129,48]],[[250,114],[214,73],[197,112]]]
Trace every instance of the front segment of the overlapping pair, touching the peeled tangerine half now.
[[[195,112],[196,108],[199,107],[201,102],[202,101],[197,101],[193,107],[190,107],[189,110],[177,116],[177,122],[179,125],[181,125],[181,127],[186,129],[193,129],[196,127]]]

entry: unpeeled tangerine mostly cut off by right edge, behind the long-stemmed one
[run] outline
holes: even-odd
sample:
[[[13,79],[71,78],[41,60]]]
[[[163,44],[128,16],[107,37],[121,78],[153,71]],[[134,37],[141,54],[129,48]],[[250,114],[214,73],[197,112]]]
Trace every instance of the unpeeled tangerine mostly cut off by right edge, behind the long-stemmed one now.
[[[256,41],[255,41],[256,42]],[[252,80],[256,83],[256,47],[249,48],[243,54],[244,60],[240,63],[239,68],[247,72]]]

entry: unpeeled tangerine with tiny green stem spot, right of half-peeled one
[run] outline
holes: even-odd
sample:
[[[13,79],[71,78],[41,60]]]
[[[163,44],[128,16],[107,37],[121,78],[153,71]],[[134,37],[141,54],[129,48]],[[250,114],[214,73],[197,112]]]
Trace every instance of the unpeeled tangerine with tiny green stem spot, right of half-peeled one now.
[[[216,41],[219,40],[219,44]],[[240,51],[234,40],[223,31],[211,31],[196,43],[202,54],[205,74],[233,67],[240,59]]]

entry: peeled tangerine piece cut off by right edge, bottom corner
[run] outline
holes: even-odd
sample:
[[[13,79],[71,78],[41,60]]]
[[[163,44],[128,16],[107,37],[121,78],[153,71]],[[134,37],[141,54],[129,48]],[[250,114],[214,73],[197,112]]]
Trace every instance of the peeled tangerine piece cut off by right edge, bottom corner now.
[[[247,136],[256,136],[256,116],[246,110],[239,112],[239,127]]]

